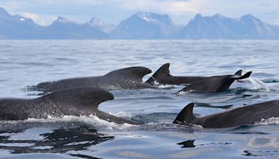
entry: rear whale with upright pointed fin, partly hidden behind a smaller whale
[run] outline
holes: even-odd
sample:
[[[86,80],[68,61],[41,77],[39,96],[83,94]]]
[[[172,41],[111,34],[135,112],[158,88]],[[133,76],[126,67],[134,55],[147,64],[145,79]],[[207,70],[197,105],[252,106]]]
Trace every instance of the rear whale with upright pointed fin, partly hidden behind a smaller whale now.
[[[242,70],[238,70],[234,75],[241,76]],[[202,76],[173,76],[169,73],[169,63],[165,63],[156,72],[146,80],[149,84],[174,84],[174,85],[186,85],[193,84],[202,79],[209,77]]]

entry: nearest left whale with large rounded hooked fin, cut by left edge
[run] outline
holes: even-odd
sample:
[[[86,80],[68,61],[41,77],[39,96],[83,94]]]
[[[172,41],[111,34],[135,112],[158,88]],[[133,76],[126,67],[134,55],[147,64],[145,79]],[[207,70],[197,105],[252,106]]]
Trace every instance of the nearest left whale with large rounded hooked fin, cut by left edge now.
[[[114,96],[109,91],[93,87],[63,89],[34,99],[1,98],[0,120],[47,119],[48,116],[89,116],[93,114],[105,121],[138,124],[98,109],[100,103],[113,99]]]

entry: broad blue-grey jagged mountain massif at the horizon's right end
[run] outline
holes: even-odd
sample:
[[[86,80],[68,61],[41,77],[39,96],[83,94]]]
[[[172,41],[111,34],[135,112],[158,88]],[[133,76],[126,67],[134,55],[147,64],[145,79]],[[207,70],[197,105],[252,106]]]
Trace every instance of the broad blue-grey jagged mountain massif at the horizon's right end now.
[[[274,39],[279,38],[276,26],[262,22],[252,15],[238,19],[216,14],[197,14],[179,34],[184,39]]]

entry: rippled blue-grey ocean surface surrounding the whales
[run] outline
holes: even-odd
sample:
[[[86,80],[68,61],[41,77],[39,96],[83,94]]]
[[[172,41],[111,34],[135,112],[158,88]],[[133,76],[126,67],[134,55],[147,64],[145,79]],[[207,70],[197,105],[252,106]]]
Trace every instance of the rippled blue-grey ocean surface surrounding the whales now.
[[[99,106],[143,126],[96,116],[0,121],[0,158],[279,158],[276,118],[225,129],[172,124],[188,103],[195,103],[195,116],[205,116],[278,100],[278,52],[278,40],[0,40],[1,98],[38,98],[41,92],[29,86],[131,66],[154,73],[170,63],[171,75],[184,76],[252,70],[223,93],[175,96],[183,86],[118,90]]]

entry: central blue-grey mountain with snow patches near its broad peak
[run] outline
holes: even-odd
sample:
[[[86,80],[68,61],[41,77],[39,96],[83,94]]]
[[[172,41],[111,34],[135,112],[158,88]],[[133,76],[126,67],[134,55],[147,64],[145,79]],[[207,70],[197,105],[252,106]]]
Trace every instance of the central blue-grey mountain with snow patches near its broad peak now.
[[[137,13],[120,22],[110,34],[116,39],[164,39],[174,38],[179,26],[169,15]]]

